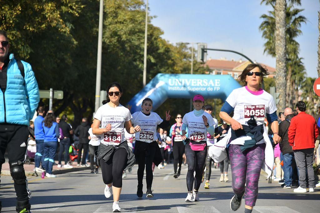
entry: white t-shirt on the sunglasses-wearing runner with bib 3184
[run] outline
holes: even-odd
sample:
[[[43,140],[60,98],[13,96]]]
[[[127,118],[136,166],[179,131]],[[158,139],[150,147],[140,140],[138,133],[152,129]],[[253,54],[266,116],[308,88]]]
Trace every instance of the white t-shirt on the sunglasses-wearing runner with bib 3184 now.
[[[98,108],[95,119],[101,121],[101,128],[105,128],[107,124],[111,124],[111,131],[100,135],[100,142],[103,145],[119,145],[124,142],[124,122],[130,121],[132,116],[126,107],[121,104],[115,108],[107,104]]]

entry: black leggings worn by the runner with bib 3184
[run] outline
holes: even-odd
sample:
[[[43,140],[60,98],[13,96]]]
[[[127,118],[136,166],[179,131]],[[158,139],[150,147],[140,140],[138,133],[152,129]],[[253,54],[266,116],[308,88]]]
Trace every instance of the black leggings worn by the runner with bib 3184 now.
[[[105,184],[112,183],[117,188],[122,187],[122,173],[127,166],[127,156],[125,148],[117,148],[107,162],[100,159],[102,179]]]

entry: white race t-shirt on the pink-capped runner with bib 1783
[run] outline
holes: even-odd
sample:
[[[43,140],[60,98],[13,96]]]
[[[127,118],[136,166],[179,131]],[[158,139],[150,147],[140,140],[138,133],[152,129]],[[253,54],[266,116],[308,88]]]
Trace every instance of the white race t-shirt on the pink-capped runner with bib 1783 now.
[[[215,122],[210,114],[204,112],[208,119],[209,126],[215,126]],[[188,125],[188,138],[193,141],[207,141],[207,128],[204,126],[202,115],[196,116],[194,111],[183,116],[182,123]]]

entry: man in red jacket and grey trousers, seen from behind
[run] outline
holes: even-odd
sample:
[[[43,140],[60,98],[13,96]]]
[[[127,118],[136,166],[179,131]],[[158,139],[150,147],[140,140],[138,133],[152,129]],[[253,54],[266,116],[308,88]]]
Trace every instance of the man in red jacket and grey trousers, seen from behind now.
[[[291,119],[288,130],[289,144],[292,146],[299,169],[300,186],[294,189],[293,192],[307,192],[306,167],[308,170],[309,192],[314,192],[313,151],[319,131],[316,120],[311,115],[305,113],[306,104],[303,101],[298,101],[296,110],[298,115]]]

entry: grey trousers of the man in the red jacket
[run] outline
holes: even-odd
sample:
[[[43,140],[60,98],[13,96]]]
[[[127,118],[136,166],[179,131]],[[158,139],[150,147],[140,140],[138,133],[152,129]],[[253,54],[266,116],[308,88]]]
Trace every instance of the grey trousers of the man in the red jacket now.
[[[313,151],[314,148],[293,150],[294,158],[299,169],[299,183],[301,188],[307,188],[306,167],[308,170],[309,188],[315,187],[315,173],[312,167]]]

